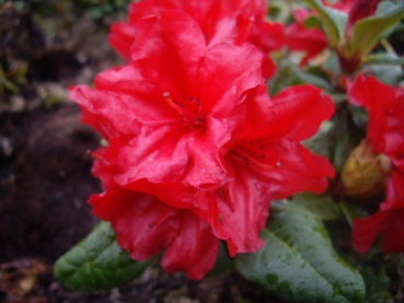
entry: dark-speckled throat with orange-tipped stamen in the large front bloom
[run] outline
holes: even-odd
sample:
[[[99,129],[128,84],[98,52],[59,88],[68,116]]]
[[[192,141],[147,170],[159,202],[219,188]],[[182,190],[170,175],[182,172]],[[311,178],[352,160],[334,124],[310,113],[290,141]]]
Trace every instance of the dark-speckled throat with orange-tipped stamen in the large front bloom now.
[[[206,119],[205,115],[200,110],[199,98],[194,98],[192,96],[183,96],[183,100],[178,102],[177,100],[172,100],[169,92],[163,94],[165,102],[171,108],[175,109],[181,117],[181,123],[191,127],[205,127]]]

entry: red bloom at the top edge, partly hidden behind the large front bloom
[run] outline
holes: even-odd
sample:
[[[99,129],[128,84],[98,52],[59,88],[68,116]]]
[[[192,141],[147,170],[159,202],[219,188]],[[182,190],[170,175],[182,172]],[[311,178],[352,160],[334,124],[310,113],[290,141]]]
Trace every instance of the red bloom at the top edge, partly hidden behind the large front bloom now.
[[[284,26],[264,20],[264,0],[143,0],[129,7],[128,22],[112,25],[109,44],[125,58],[130,56],[135,40],[135,24],[141,18],[155,15],[159,10],[181,10],[189,14],[200,26],[207,44],[231,42],[238,45],[249,40],[263,53],[279,49],[285,43]],[[264,77],[275,72],[275,65],[265,56]]]

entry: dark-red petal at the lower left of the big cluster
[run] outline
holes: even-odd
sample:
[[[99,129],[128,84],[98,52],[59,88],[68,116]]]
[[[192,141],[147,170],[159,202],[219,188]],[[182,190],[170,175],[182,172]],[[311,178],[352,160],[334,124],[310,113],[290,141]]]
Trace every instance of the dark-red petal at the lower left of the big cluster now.
[[[111,189],[92,195],[89,203],[95,215],[111,221],[118,245],[136,260],[149,259],[169,246],[181,225],[177,210],[136,191]],[[158,223],[150,228],[153,222]]]

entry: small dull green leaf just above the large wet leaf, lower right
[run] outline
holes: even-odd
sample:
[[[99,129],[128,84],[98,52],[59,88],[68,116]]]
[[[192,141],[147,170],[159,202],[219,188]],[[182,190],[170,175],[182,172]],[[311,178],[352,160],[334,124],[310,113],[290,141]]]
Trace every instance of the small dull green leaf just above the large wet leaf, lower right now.
[[[309,210],[321,220],[336,220],[340,217],[338,205],[326,194],[315,195],[307,191],[295,195],[292,202]]]

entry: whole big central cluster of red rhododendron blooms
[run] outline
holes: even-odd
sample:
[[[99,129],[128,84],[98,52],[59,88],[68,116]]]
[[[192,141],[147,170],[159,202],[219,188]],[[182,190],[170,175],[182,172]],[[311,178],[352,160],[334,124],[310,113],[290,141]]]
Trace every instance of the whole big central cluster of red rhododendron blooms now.
[[[70,96],[106,140],[92,152],[105,191],[95,215],[145,260],[163,250],[169,272],[201,279],[221,240],[229,254],[256,252],[272,199],[322,193],[333,167],[300,144],[334,106],[321,90],[264,80],[284,30],[265,0],[145,0],[109,43],[127,59]]]

